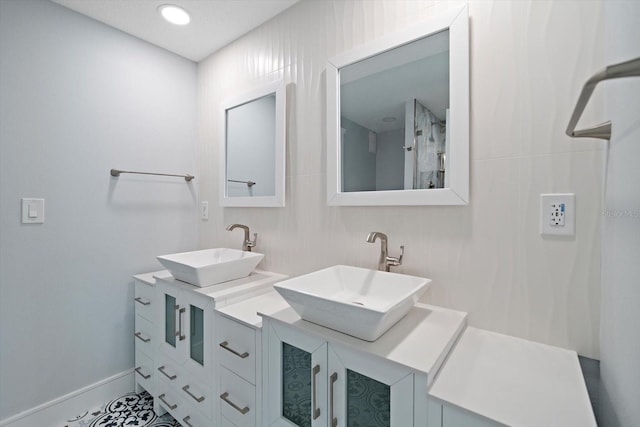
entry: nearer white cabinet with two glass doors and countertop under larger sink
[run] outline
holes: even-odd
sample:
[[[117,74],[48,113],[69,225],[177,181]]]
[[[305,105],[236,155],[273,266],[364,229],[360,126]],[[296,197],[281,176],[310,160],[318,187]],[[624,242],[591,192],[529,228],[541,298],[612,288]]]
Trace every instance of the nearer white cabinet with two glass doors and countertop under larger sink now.
[[[367,342],[291,309],[265,315],[267,425],[425,427],[427,386],[465,324],[465,313],[418,304]]]

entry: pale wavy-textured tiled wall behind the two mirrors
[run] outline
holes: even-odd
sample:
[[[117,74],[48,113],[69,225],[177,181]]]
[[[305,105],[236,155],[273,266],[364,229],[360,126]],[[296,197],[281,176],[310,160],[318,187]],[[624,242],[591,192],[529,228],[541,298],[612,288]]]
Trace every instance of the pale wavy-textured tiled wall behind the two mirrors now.
[[[301,2],[200,63],[199,189],[210,202],[218,200],[220,101],[278,77],[294,83],[287,206],[210,205],[200,245],[239,247],[224,227],[245,223],[259,233],[262,267],[297,275],[338,263],[375,268],[379,246],[365,238],[383,231],[392,255],[405,245],[397,271],[433,279],[426,300],[468,311],[472,325],[597,358],[604,151],[564,130],[584,72],[603,65],[602,2],[470,2],[469,206],[327,207],[327,59],[457,3]],[[585,120],[602,110],[596,97]],[[575,239],[538,234],[546,192],[576,193]]]

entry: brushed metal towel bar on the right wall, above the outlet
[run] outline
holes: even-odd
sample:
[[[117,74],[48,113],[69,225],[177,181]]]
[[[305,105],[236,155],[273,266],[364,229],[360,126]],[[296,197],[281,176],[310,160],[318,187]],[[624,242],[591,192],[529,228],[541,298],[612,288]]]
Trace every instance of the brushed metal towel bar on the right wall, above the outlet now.
[[[611,139],[611,121],[606,121],[602,124],[585,129],[575,129],[596,85],[601,81],[617,79],[620,77],[640,77],[640,58],[609,65],[607,68],[594,74],[589,80],[587,80],[582,87],[582,92],[580,92],[580,97],[578,98],[576,107],[573,110],[571,119],[569,120],[567,135],[572,138]]]

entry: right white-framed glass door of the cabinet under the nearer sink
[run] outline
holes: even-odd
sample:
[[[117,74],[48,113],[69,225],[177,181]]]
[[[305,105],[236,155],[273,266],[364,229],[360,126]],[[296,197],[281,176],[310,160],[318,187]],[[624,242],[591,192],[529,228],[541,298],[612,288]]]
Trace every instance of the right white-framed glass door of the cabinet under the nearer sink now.
[[[413,373],[329,344],[329,426],[413,426]]]

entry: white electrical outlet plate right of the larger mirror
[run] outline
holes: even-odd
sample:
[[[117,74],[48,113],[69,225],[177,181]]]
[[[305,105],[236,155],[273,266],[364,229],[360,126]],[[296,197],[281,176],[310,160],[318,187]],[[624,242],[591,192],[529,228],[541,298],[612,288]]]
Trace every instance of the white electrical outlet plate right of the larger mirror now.
[[[574,236],[576,234],[576,195],[574,193],[540,195],[540,234]]]

